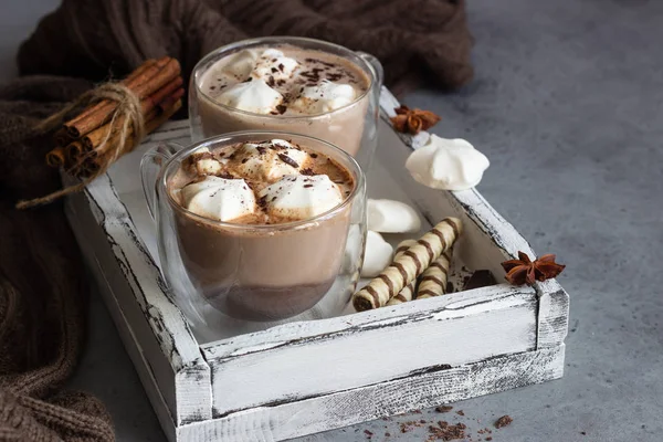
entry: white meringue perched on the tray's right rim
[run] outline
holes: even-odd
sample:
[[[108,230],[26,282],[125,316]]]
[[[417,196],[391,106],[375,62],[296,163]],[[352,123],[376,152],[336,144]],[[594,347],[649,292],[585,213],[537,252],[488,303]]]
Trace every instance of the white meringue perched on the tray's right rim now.
[[[478,185],[491,162],[464,139],[431,135],[410,154],[406,167],[418,182],[433,189],[465,190]]]

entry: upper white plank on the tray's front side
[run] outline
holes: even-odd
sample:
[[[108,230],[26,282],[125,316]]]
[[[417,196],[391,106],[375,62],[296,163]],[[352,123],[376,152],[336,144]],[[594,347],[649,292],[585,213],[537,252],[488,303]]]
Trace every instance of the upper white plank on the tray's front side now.
[[[536,347],[537,299],[532,291],[493,290],[490,295],[436,308],[434,301],[418,302],[424,308],[420,313],[377,318],[269,350],[215,359],[206,352],[212,367],[213,415]]]

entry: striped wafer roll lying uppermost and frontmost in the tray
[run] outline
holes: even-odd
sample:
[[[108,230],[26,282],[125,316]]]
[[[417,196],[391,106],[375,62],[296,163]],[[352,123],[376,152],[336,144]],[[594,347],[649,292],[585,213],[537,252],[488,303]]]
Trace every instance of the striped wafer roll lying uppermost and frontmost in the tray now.
[[[448,250],[461,234],[463,225],[457,218],[445,218],[417,244],[393,260],[382,273],[355,293],[352,305],[357,312],[383,307],[389,299],[417,277]]]

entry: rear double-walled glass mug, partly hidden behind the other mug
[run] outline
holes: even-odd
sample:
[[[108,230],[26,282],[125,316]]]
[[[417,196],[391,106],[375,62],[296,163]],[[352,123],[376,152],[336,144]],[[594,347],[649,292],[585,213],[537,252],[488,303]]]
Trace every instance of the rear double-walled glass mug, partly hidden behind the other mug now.
[[[355,65],[367,78],[367,91],[337,109],[316,115],[264,115],[219,103],[202,90],[204,74],[221,59],[253,48],[295,46],[338,56]],[[334,43],[295,36],[266,36],[220,48],[204,56],[191,75],[189,122],[191,138],[200,140],[235,130],[284,130],[324,139],[355,157],[369,170],[378,141],[378,117],[382,66],[372,55],[354,52]]]

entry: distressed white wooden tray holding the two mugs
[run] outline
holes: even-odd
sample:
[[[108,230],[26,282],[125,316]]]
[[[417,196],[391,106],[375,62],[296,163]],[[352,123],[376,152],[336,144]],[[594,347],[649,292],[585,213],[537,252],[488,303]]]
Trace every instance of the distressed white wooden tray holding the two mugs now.
[[[369,196],[415,207],[422,230],[461,218],[455,266],[488,269],[502,280],[502,261],[534,252],[476,190],[438,191],[410,178],[404,160],[428,134],[396,134],[387,116],[397,106],[383,90]],[[555,280],[266,329],[192,328],[160,276],[138,176],[147,148],[188,138],[186,122],[167,124],[67,200],[81,249],[171,441],[280,441],[562,376],[569,304]]]

